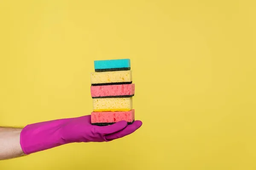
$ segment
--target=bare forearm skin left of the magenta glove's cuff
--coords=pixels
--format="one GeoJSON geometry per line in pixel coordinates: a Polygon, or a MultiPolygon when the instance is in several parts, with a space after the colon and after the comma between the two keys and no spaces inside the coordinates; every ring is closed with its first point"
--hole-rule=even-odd
{"type": "Polygon", "coordinates": [[[0,160],[25,155],[20,147],[21,130],[22,128],[0,127],[0,160]]]}

